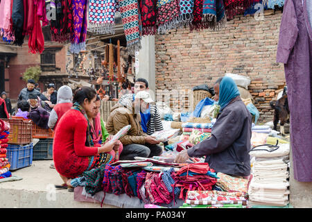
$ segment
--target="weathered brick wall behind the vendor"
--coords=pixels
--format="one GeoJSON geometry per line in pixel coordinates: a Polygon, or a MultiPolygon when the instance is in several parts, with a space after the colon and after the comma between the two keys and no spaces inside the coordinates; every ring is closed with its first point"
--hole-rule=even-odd
{"type": "Polygon", "coordinates": [[[225,73],[240,74],[252,80],[248,90],[260,112],[259,121],[272,121],[269,103],[275,89],[285,85],[284,67],[275,62],[281,15],[266,10],[263,20],[238,16],[220,31],[191,33],[189,28],[179,28],[156,35],[157,101],[165,98],[171,108],[187,111],[192,98],[183,101],[182,97],[189,89],[202,83],[212,87],[225,73]]]}

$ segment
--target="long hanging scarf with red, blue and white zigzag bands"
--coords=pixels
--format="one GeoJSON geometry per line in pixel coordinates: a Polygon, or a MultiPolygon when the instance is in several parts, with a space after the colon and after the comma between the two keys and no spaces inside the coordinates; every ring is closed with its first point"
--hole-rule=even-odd
{"type": "Polygon", "coordinates": [[[127,40],[127,50],[132,56],[141,49],[139,7],[137,0],[120,0],[119,10],[123,21],[123,31],[127,40]]]}

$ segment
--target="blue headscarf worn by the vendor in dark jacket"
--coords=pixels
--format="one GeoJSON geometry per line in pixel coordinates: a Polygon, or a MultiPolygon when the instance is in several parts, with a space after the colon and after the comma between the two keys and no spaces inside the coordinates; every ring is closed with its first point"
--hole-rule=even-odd
{"type": "Polygon", "coordinates": [[[229,101],[239,96],[239,89],[236,86],[234,80],[229,76],[224,76],[220,83],[219,89],[219,101],[220,110],[223,110],[229,101]]]}

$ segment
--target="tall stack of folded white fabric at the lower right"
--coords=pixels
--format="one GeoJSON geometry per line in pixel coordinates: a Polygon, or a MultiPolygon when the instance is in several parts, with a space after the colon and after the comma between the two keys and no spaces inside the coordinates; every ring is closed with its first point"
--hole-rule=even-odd
{"type": "Polygon", "coordinates": [[[289,194],[289,144],[254,147],[252,155],[252,180],[248,189],[250,205],[288,205],[289,194]]]}

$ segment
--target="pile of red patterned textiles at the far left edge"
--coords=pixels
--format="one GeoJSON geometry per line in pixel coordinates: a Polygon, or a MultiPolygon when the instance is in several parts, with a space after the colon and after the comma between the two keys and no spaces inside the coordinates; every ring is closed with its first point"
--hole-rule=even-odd
{"type": "Polygon", "coordinates": [[[0,119],[0,180],[12,176],[7,158],[10,124],[0,119]]]}

